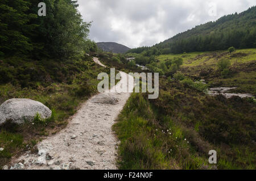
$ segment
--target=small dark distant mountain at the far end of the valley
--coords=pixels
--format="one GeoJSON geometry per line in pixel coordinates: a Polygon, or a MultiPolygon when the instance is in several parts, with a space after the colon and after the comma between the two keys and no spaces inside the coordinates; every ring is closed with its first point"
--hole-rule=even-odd
{"type": "Polygon", "coordinates": [[[105,52],[126,53],[130,48],[114,42],[98,42],[98,48],[105,52]]]}

